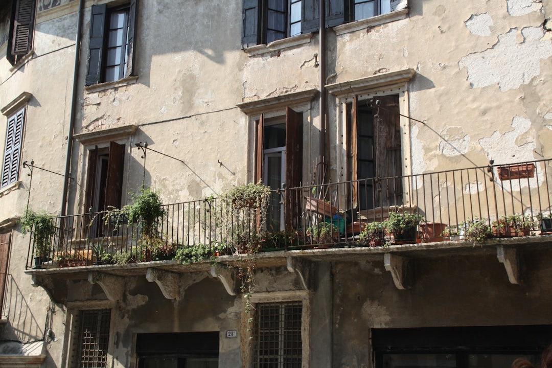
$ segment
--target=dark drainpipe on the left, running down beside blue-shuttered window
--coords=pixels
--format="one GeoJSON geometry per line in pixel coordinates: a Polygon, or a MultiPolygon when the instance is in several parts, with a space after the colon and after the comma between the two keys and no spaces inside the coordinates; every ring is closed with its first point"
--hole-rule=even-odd
{"type": "Polygon", "coordinates": [[[71,99],[71,113],[69,118],[69,132],[67,134],[67,157],[65,161],[65,182],[63,183],[63,194],[61,197],[61,216],[67,213],[67,191],[69,186],[69,174],[71,172],[71,154],[73,151],[73,129],[75,127],[75,115],[77,105],[77,82],[78,67],[81,54],[81,28],[84,0],[78,0],[77,37],[75,40],[75,70],[73,70],[73,95],[71,99]]]}

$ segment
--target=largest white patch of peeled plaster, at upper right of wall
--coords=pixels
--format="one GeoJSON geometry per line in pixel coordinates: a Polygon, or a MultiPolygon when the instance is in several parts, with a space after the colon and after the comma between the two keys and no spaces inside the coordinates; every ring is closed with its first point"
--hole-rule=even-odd
{"type": "Polygon", "coordinates": [[[501,90],[518,88],[540,73],[540,59],[552,56],[552,41],[544,40],[544,30],[527,27],[521,30],[523,41],[516,41],[516,29],[498,36],[491,49],[474,52],[460,59],[460,69],[468,70],[471,86],[486,87],[497,83],[501,90]]]}

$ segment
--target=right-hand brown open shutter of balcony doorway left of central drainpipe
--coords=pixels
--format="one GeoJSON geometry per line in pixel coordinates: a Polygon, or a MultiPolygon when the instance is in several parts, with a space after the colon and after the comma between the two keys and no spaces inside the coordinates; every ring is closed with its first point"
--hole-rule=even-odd
{"type": "MultiPolygon", "coordinates": [[[[294,188],[302,180],[303,125],[301,114],[290,108],[285,111],[285,187],[294,188]]],[[[301,214],[301,198],[298,193],[288,192],[284,200],[284,223],[286,228],[297,228],[301,214]]]]}

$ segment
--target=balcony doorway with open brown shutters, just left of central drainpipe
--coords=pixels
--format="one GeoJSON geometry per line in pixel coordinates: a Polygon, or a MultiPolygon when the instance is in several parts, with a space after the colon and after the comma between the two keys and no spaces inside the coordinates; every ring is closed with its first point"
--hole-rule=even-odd
{"type": "MultiPolygon", "coordinates": [[[[302,176],[302,114],[289,107],[284,116],[265,118],[256,122],[255,182],[261,180],[272,189],[294,188],[301,185],[302,176]]],[[[272,193],[267,214],[270,231],[296,228],[300,200],[272,193]],[[284,215],[285,214],[285,215],[284,215]]]]}

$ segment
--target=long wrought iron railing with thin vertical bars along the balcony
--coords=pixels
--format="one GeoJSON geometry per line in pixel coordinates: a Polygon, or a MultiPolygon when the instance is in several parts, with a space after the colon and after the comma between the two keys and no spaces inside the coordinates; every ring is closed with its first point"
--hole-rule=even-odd
{"type": "MultiPolygon", "coordinates": [[[[367,224],[384,221],[392,212],[420,214],[422,222],[437,224],[432,225],[433,237],[421,237],[422,241],[444,240],[445,226],[447,235],[461,236],[466,224],[477,221],[492,228],[513,215],[535,220],[530,231],[539,233],[537,218],[548,217],[552,210],[550,164],[547,159],[289,188],[273,192],[280,200],[269,201],[272,207],[266,219],[259,218],[258,209],[235,209],[218,198],[164,205],[164,215],[156,224],[156,246],[177,249],[203,244],[213,252],[228,253],[247,252],[251,247],[358,246],[367,224]],[[329,228],[326,237],[322,228],[329,228]]],[[[149,260],[141,220],[129,222],[124,211],[52,221],[57,231],[47,239],[41,257],[34,257],[38,252],[31,237],[28,267],[35,266],[35,259],[37,265],[93,265],[102,254],[110,254],[112,261],[123,253],[131,262],[149,260]]],[[[390,233],[386,239],[396,240],[390,233]]]]}

